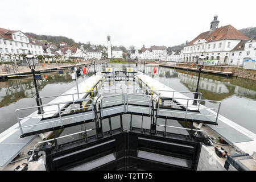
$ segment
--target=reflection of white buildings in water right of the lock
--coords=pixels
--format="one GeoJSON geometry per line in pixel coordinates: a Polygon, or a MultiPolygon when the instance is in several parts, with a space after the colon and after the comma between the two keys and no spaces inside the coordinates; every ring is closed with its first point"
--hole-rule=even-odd
{"type": "MultiPolygon", "coordinates": [[[[191,92],[195,92],[198,73],[187,72],[180,69],[160,67],[159,77],[179,78],[179,81],[191,92]]],[[[234,94],[239,97],[247,97],[256,100],[256,82],[236,77],[222,77],[201,74],[199,92],[203,98],[221,101],[234,94]]]]}

